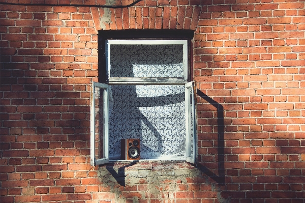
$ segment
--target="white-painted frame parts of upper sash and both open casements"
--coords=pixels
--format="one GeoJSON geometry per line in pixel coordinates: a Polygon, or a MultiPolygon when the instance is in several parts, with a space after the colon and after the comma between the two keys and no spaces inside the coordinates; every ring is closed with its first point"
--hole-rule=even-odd
{"type": "MultiPolygon", "coordinates": [[[[108,134],[108,112],[109,112],[109,95],[108,85],[126,84],[126,85],[140,85],[140,84],[168,84],[168,85],[185,85],[185,109],[186,109],[186,160],[187,162],[196,163],[197,159],[197,133],[196,133],[196,110],[193,81],[187,82],[188,79],[188,41],[187,40],[106,40],[106,74],[107,83],[92,82],[91,84],[91,102],[90,102],[90,163],[91,165],[100,165],[108,163],[109,161],[109,134],[108,134]],[[141,44],[141,45],[155,45],[155,44],[182,44],[183,45],[183,78],[114,78],[108,77],[110,70],[110,44],[141,44]],[[95,88],[104,89],[103,91],[103,150],[104,157],[96,159],[95,157],[95,88]],[[192,97],[192,101],[191,101],[192,97]],[[192,117],[191,117],[192,111],[192,117]],[[193,122],[193,129],[191,129],[191,122],[193,122]],[[193,136],[193,137],[191,137],[193,136]],[[191,140],[193,140],[191,143],[191,140]],[[191,153],[191,146],[193,146],[193,154],[191,153]]],[[[99,146],[100,147],[100,146],[99,146]]],[[[147,160],[146,160],[147,161],[147,160]]],[[[148,160],[149,161],[149,160],[148,160]]],[[[158,159],[163,161],[163,159],[158,159]]],[[[183,161],[183,160],[182,160],[183,161]]]]}

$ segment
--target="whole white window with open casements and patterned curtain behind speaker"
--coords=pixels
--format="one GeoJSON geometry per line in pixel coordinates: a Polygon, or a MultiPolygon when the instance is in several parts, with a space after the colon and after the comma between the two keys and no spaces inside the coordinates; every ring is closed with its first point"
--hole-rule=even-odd
{"type": "Polygon", "coordinates": [[[105,40],[104,82],[92,83],[91,163],[120,159],[139,138],[141,160],[195,162],[194,83],[188,40],[105,40]]]}

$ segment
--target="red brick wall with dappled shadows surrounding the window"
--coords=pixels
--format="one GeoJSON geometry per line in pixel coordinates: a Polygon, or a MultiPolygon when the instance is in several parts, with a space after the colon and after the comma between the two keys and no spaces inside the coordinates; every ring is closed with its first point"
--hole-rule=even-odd
{"type": "Polygon", "coordinates": [[[303,1],[0,10],[1,202],[304,203],[303,1]],[[129,28],[195,31],[196,167],[89,164],[97,34],[129,28]]]}

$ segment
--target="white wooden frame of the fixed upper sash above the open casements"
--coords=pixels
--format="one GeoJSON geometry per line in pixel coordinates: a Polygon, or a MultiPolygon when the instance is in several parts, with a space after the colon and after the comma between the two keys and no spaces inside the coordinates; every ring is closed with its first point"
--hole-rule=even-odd
{"type": "MultiPolygon", "coordinates": [[[[105,51],[106,51],[106,81],[109,84],[185,84],[188,80],[188,41],[187,40],[106,40],[105,41],[105,51]],[[113,51],[111,49],[111,45],[182,45],[182,55],[181,59],[181,65],[182,68],[179,69],[182,74],[178,77],[160,77],[160,76],[126,76],[124,74],[113,74],[113,69],[111,70],[111,66],[113,66],[113,62],[111,62],[111,57],[114,57],[112,55],[113,51]],[[111,64],[112,63],[112,64],[111,64]]],[[[120,52],[114,52],[114,54],[117,54],[116,57],[119,58],[120,52]]],[[[124,53],[121,53],[124,54],[124,53]]],[[[167,53],[170,54],[170,53],[167,53]]],[[[174,53],[173,53],[174,54],[174,53]]],[[[137,55],[138,56],[138,55],[137,55]]],[[[140,55],[141,56],[141,55],[140,55]]],[[[145,57],[145,56],[143,56],[145,57]]],[[[162,55],[161,55],[162,57],[162,55]]],[[[172,56],[174,58],[174,56],[172,56]]],[[[165,58],[166,59],[166,58],[165,58]]],[[[144,59],[145,61],[145,59],[144,59]]],[[[133,64],[132,64],[133,65],[133,64]]],[[[136,65],[136,64],[135,64],[136,65]]],[[[140,64],[142,66],[145,66],[143,64],[140,64]]],[[[155,64],[149,64],[149,65],[155,65],[155,64]]],[[[147,66],[149,66],[147,65],[147,66]]],[[[126,67],[130,68],[130,67],[126,67]]],[[[120,68],[117,70],[124,70],[124,68],[120,68]]],[[[114,69],[116,70],[116,69],[114,69]]],[[[148,69],[149,70],[149,69],[148,69]]],[[[151,69],[150,69],[151,70],[151,69]]],[[[149,70],[149,71],[150,71],[149,70]]],[[[170,71],[170,69],[167,69],[170,71]]],[[[174,71],[173,71],[174,72],[174,71]]],[[[151,74],[151,72],[150,72],[151,74]]],[[[158,73],[157,73],[158,74],[158,73]]]]}

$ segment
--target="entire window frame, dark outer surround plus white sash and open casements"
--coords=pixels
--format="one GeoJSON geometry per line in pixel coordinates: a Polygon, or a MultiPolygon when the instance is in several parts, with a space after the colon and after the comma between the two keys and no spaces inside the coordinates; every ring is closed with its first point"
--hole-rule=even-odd
{"type": "MultiPolygon", "coordinates": [[[[108,163],[109,161],[109,135],[108,135],[108,85],[149,85],[149,84],[179,84],[185,85],[185,109],[186,109],[186,160],[187,162],[196,163],[197,160],[197,133],[196,133],[196,109],[195,109],[195,95],[196,88],[193,81],[191,81],[191,67],[192,60],[191,39],[194,36],[194,31],[100,31],[99,34],[99,82],[92,82],[91,102],[90,102],[90,163],[92,165],[100,165],[108,163]],[[178,34],[178,35],[177,35],[178,34]],[[124,36],[124,37],[123,37],[124,36]],[[143,38],[142,36],[145,36],[143,38]],[[110,44],[162,44],[162,43],[181,43],[184,44],[184,77],[183,78],[108,78],[108,49],[107,43],[110,44]],[[191,81],[191,82],[188,82],[191,81]],[[103,157],[96,159],[95,155],[95,140],[97,133],[95,132],[95,88],[103,89],[103,157]],[[192,98],[192,99],[191,99],[192,98]],[[192,116],[191,116],[192,112],[192,116]],[[191,122],[193,122],[193,129],[191,129],[191,122]],[[193,138],[191,137],[193,136],[193,138]],[[192,140],[192,143],[191,143],[192,140]],[[193,146],[193,153],[191,147],[193,146]]],[[[109,44],[108,44],[109,45],[109,44]]],[[[125,160],[124,160],[125,161],[125,160]]],[[[140,160],[142,161],[142,160],[140,160]]],[[[151,161],[151,160],[143,160],[151,161]]],[[[163,161],[163,159],[158,159],[163,161]]],[[[183,160],[182,160],[183,161],[183,160]]]]}

